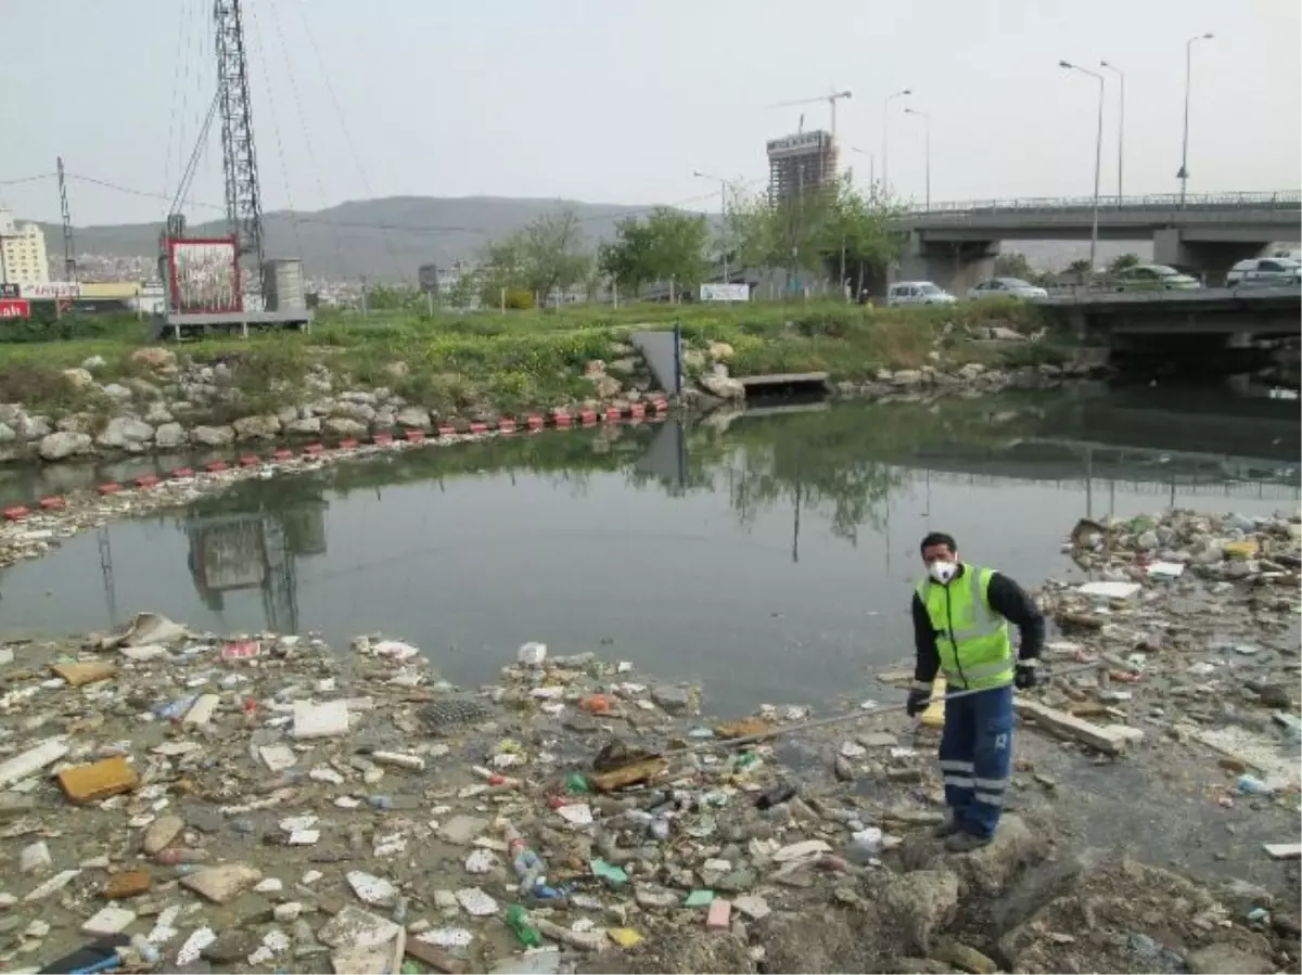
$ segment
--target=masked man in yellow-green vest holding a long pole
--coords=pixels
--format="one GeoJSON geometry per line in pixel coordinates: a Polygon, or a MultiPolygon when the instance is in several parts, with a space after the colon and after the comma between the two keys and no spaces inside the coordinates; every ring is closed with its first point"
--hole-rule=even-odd
{"type": "Polygon", "coordinates": [[[1035,686],[1044,646],[1044,617],[1021,586],[993,569],[958,558],[950,535],[922,540],[927,577],[913,596],[918,650],[909,716],[926,709],[931,683],[943,670],[949,693],[979,690],[945,703],[940,773],[949,816],[937,831],[956,853],[995,836],[1013,771],[1013,687],[1035,686]],[[1008,625],[1021,633],[1021,652],[1008,625]]]}

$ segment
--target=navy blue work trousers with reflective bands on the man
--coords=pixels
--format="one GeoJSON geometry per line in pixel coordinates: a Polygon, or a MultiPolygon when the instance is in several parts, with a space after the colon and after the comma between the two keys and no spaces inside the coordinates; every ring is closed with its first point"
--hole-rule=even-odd
{"type": "Polygon", "coordinates": [[[945,702],[940,773],[954,821],[975,836],[993,836],[1013,773],[1012,685],[945,702]]]}

